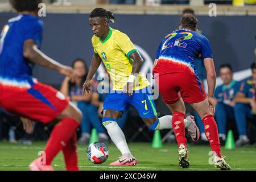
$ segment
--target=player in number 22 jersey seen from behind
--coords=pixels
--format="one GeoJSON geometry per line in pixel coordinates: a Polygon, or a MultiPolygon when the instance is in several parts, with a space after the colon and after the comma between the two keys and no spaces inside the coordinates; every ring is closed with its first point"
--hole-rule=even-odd
{"type": "Polygon", "coordinates": [[[230,169],[220,152],[220,139],[214,120],[214,88],[216,72],[210,43],[196,32],[197,19],[185,14],[181,17],[179,30],[166,35],[156,53],[153,73],[159,85],[163,101],[172,111],[172,127],[179,147],[179,165],[189,167],[187,139],[185,138],[185,105],[188,102],[204,122],[205,134],[214,154],[214,164],[221,169],[230,169]],[[204,92],[195,58],[201,53],[207,71],[208,96],[204,92]],[[183,101],[184,100],[184,101],[183,101]]]}

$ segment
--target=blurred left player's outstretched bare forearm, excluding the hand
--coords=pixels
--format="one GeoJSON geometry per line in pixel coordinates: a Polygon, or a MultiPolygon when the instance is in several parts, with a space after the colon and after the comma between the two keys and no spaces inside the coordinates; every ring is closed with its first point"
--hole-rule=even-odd
{"type": "Polygon", "coordinates": [[[34,40],[29,39],[24,42],[23,56],[33,63],[39,64],[43,67],[54,69],[60,72],[64,65],[46,56],[42,51],[38,49],[34,40]]]}

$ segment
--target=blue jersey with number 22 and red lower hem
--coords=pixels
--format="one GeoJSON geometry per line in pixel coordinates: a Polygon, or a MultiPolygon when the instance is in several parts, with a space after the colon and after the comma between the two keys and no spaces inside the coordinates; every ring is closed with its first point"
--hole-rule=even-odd
{"type": "Polygon", "coordinates": [[[195,59],[213,58],[209,40],[198,32],[180,29],[164,37],[155,59],[158,59],[153,73],[189,72],[197,74],[195,59]]]}

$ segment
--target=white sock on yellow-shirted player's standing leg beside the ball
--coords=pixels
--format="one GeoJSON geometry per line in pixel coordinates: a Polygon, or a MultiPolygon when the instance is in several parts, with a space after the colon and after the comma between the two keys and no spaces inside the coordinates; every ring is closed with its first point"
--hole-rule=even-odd
{"type": "Polygon", "coordinates": [[[121,128],[118,126],[117,122],[109,123],[105,126],[105,128],[108,131],[109,137],[112,139],[115,146],[117,146],[122,155],[131,156],[131,152],[125,140],[125,135],[123,134],[121,128]]]}

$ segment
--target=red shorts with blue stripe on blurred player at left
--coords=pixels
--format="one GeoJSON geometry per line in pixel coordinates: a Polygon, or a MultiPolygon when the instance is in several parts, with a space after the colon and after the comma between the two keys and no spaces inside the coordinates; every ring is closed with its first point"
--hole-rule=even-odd
{"type": "Polygon", "coordinates": [[[65,96],[52,86],[36,83],[28,89],[0,84],[0,107],[11,114],[49,123],[68,105],[65,96]]]}

